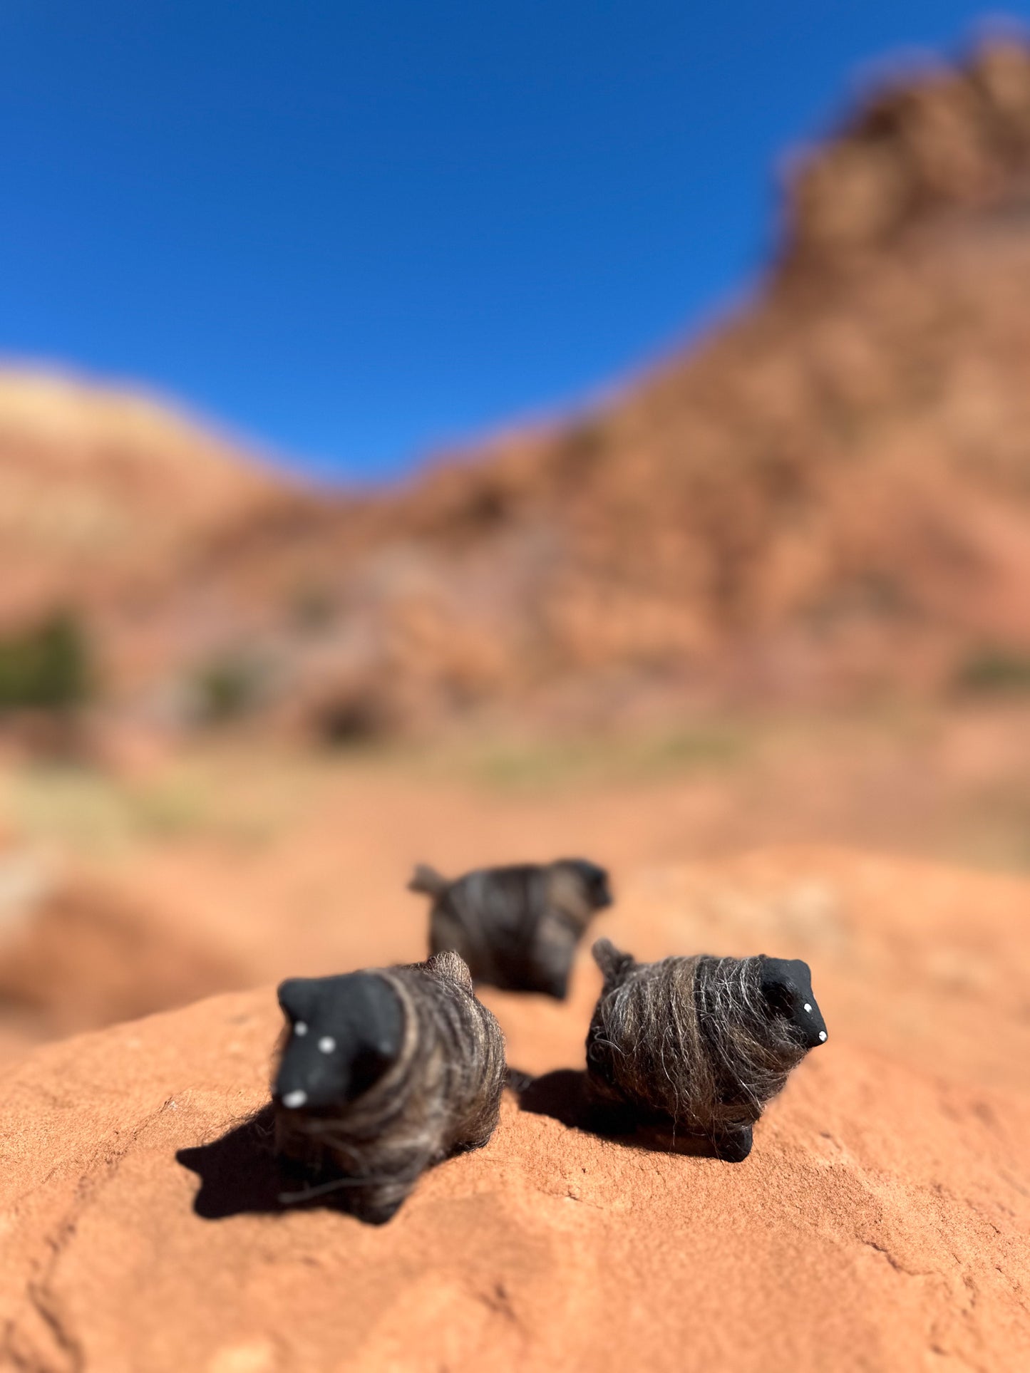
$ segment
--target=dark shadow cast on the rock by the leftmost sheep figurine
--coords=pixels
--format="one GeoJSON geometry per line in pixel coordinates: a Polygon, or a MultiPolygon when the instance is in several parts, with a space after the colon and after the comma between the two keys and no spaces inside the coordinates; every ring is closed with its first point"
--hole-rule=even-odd
{"type": "Polygon", "coordinates": [[[339,1179],[312,1181],[302,1170],[276,1157],[273,1120],[269,1104],[211,1144],[176,1153],[176,1162],[201,1179],[194,1200],[196,1215],[222,1221],[231,1215],[295,1211],[298,1207],[350,1210],[350,1197],[339,1179]]]}

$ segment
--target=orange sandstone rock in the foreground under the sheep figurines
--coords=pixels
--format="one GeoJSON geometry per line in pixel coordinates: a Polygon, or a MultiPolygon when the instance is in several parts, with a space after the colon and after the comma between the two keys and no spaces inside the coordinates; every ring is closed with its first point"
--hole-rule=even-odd
{"type": "Polygon", "coordinates": [[[567,1006],[492,997],[512,1064],[566,1070],[555,1115],[508,1098],[492,1144],[382,1229],[262,1210],[266,1156],[218,1144],[266,1101],[271,987],[36,1049],[0,1075],[0,1368],[1022,1368],[1029,910],[1025,881],[832,851],[640,873],[606,932],[641,956],[813,965],[831,1038],[750,1159],[555,1118],[580,968],[567,1006]]]}

